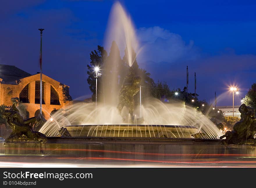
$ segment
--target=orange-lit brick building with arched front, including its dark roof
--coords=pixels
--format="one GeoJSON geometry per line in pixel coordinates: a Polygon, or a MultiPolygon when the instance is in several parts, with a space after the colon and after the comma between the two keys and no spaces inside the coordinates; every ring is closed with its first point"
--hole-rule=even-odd
{"type": "MultiPolygon", "coordinates": [[[[19,97],[26,106],[27,117],[40,112],[40,73],[31,75],[10,65],[0,64],[0,105],[11,106],[11,98],[19,97]]],[[[54,109],[65,109],[72,100],[69,86],[42,74],[42,115],[46,120],[54,109]]]]}

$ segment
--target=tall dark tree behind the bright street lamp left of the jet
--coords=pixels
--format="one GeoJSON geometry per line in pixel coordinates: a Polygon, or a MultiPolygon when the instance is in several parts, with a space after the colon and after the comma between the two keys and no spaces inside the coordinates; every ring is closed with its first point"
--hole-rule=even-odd
{"type": "MultiPolygon", "coordinates": [[[[95,67],[103,67],[104,65],[104,61],[106,59],[107,56],[107,52],[104,49],[103,46],[99,46],[97,50],[94,50],[90,53],[90,65],[87,65],[88,71],[88,78],[87,78],[87,82],[89,84],[89,88],[91,90],[91,92],[93,93],[92,95],[92,100],[95,101],[95,97],[96,97],[96,82],[95,82],[95,67]]],[[[97,95],[101,95],[102,94],[102,84],[98,84],[97,86],[97,95]]]]}

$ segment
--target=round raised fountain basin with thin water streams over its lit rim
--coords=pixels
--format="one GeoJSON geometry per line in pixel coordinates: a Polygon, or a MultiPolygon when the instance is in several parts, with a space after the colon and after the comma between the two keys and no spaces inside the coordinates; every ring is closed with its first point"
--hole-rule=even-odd
{"type": "Polygon", "coordinates": [[[70,125],[72,137],[191,138],[198,133],[194,126],[184,125],[70,125]]]}

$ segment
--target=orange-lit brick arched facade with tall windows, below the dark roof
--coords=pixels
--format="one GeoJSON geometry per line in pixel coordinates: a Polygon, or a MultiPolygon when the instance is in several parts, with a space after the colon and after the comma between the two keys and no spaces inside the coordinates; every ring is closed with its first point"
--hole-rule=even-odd
{"type": "MultiPolygon", "coordinates": [[[[34,117],[35,112],[40,109],[40,74],[19,79],[17,85],[0,85],[0,104],[10,106],[12,105],[10,98],[19,97],[26,105],[30,118],[34,117]]],[[[70,104],[70,100],[66,100],[67,92],[63,91],[64,88],[67,90],[68,86],[42,75],[42,111],[46,120],[50,118],[50,113],[54,109],[65,109],[65,106],[70,104]]]]}

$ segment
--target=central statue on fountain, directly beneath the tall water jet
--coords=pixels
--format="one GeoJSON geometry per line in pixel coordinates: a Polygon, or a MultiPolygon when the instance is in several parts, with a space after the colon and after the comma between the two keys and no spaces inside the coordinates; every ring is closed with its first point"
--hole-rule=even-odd
{"type": "MultiPolygon", "coordinates": [[[[140,84],[141,77],[135,76],[134,68],[130,67],[119,92],[119,103],[117,108],[121,114],[123,107],[126,106],[128,108],[132,123],[135,123],[134,95],[140,91],[140,84]]],[[[123,120],[128,122],[128,118],[129,117],[126,117],[123,120]]],[[[143,118],[137,118],[136,122],[141,123],[144,122],[144,120],[143,118]]]]}

